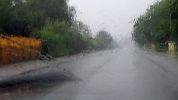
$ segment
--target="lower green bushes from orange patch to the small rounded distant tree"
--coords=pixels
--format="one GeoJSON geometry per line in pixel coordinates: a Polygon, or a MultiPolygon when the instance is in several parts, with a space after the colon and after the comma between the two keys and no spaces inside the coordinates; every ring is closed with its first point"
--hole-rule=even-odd
{"type": "Polygon", "coordinates": [[[48,54],[59,57],[81,52],[86,49],[107,49],[113,45],[113,39],[106,31],[100,31],[95,38],[91,37],[88,28],[84,24],[74,24],[69,27],[65,21],[48,23],[33,36],[45,40],[48,46],[48,54]],[[85,30],[85,31],[84,31],[85,30]]]}

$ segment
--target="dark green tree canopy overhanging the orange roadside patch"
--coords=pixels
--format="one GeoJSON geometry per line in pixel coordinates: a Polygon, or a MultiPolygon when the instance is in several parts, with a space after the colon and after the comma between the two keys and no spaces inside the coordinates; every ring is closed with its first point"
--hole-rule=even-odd
{"type": "Polygon", "coordinates": [[[67,0],[0,0],[0,32],[29,35],[49,21],[73,22],[67,0]]]}

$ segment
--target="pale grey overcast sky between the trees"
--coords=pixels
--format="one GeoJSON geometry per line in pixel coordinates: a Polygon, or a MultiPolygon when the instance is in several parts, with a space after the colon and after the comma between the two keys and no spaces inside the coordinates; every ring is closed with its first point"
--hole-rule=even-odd
{"type": "Polygon", "coordinates": [[[129,23],[144,14],[156,0],[70,0],[77,9],[78,20],[90,26],[93,33],[105,29],[114,37],[131,36],[129,23]]]}

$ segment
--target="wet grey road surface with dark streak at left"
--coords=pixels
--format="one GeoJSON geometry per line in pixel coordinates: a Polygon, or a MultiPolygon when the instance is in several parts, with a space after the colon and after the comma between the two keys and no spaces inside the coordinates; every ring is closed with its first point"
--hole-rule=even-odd
{"type": "Polygon", "coordinates": [[[135,46],[100,51],[1,81],[0,100],[178,100],[178,63],[135,46]]]}

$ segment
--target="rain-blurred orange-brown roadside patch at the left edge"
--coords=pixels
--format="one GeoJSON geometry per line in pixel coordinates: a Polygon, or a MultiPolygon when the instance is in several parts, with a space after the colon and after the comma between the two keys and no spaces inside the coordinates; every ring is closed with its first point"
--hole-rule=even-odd
{"type": "Polygon", "coordinates": [[[39,39],[0,36],[0,63],[9,64],[39,57],[42,41],[39,39]]]}

